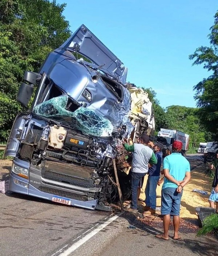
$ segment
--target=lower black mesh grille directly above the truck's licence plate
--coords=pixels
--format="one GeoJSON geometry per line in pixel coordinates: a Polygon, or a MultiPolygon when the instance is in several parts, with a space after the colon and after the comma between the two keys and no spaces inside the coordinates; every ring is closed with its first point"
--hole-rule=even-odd
{"type": "Polygon", "coordinates": [[[53,189],[51,187],[44,187],[44,186],[39,186],[38,189],[41,192],[52,194],[52,195],[58,195],[59,197],[66,197],[69,199],[74,199],[74,200],[84,201],[84,202],[88,201],[85,195],[77,195],[74,193],[66,192],[59,189],[53,189]]]}

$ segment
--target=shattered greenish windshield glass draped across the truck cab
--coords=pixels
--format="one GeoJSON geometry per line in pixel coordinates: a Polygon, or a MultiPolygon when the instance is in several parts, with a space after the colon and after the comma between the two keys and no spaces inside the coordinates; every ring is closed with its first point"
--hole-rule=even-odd
{"type": "Polygon", "coordinates": [[[74,123],[76,128],[85,135],[111,136],[113,125],[109,120],[98,115],[94,110],[84,107],[79,107],[72,112],[68,110],[70,109],[67,106],[68,100],[68,95],[52,98],[36,105],[33,113],[68,124],[74,123]]]}

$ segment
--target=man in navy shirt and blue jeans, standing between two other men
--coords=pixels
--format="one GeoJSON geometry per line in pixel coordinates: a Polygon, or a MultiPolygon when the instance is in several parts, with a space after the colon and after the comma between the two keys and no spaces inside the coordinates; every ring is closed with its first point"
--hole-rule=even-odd
{"type": "Polygon", "coordinates": [[[160,179],[161,163],[162,163],[162,149],[163,144],[154,144],[154,152],[157,158],[157,164],[151,166],[148,170],[148,181],[145,188],[145,214],[155,214],[156,212],[156,201],[157,201],[157,183],[160,179]]]}

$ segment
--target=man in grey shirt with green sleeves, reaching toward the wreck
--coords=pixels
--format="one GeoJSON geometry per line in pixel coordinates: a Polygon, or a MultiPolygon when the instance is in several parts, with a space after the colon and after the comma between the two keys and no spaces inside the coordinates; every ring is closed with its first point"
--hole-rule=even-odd
{"type": "Polygon", "coordinates": [[[129,209],[132,212],[137,212],[138,210],[138,195],[140,194],[144,176],[148,172],[148,164],[157,164],[157,158],[153,150],[148,147],[148,143],[149,136],[142,134],[138,143],[134,143],[133,145],[129,145],[128,143],[124,144],[126,151],[133,152],[131,169],[132,202],[129,209]]]}

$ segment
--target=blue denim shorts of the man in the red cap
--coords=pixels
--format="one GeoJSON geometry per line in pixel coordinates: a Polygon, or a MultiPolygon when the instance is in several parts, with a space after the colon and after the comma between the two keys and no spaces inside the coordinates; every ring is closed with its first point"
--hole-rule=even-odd
{"type": "Polygon", "coordinates": [[[166,187],[161,191],[161,215],[179,216],[182,192],[174,187],[166,187]]]}

